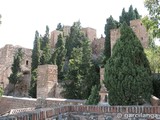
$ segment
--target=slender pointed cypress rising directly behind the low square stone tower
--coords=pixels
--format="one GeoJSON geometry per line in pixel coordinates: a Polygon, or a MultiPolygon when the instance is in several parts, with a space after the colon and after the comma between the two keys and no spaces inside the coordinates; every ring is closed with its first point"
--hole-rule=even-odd
{"type": "Polygon", "coordinates": [[[42,39],[41,43],[41,50],[42,55],[40,58],[41,65],[48,64],[51,58],[51,47],[50,47],[50,40],[49,40],[49,27],[46,26],[46,33],[42,39]]]}

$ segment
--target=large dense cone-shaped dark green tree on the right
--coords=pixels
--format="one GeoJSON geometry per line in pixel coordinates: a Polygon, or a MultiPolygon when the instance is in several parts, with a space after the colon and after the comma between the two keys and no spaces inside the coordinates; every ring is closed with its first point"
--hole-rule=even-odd
{"type": "Polygon", "coordinates": [[[151,70],[143,47],[127,24],[105,66],[105,86],[111,105],[137,105],[150,100],[153,92],[151,70]]]}

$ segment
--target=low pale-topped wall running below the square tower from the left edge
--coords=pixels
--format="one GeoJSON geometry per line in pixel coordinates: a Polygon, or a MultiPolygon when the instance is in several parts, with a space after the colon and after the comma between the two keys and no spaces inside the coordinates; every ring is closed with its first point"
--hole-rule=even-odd
{"type": "Polygon", "coordinates": [[[2,96],[0,98],[0,115],[6,113],[11,109],[19,108],[44,108],[44,107],[57,107],[60,105],[82,105],[84,100],[74,99],[33,99],[33,98],[20,98],[12,96],[2,96]]]}

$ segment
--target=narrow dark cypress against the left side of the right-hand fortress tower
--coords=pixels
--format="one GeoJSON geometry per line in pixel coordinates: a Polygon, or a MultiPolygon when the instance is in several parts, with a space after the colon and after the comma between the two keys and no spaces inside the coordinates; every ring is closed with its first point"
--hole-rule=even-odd
{"type": "Polygon", "coordinates": [[[108,60],[111,56],[111,39],[110,39],[110,30],[115,29],[118,27],[118,22],[113,19],[112,16],[110,16],[106,20],[105,24],[105,48],[104,48],[104,55],[105,55],[105,61],[108,60]]]}

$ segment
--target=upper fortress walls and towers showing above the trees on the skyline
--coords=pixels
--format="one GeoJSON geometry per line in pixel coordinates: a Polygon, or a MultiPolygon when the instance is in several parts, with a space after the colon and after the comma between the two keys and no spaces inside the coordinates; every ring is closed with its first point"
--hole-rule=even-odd
{"type": "MultiPolygon", "coordinates": [[[[141,41],[141,44],[144,48],[148,47],[148,33],[145,26],[142,24],[141,20],[132,20],[130,21],[130,27],[137,35],[138,39],[141,41]]],[[[57,42],[59,34],[62,34],[64,37],[68,36],[70,33],[71,26],[64,26],[63,31],[54,30],[51,32],[51,46],[54,48],[57,42]]],[[[90,40],[92,47],[93,57],[97,58],[100,54],[103,53],[105,38],[101,35],[100,38],[97,38],[96,30],[90,27],[82,28],[84,35],[90,40]]],[[[120,29],[112,29],[110,31],[111,38],[111,49],[116,43],[117,39],[120,37],[120,29]]]]}

